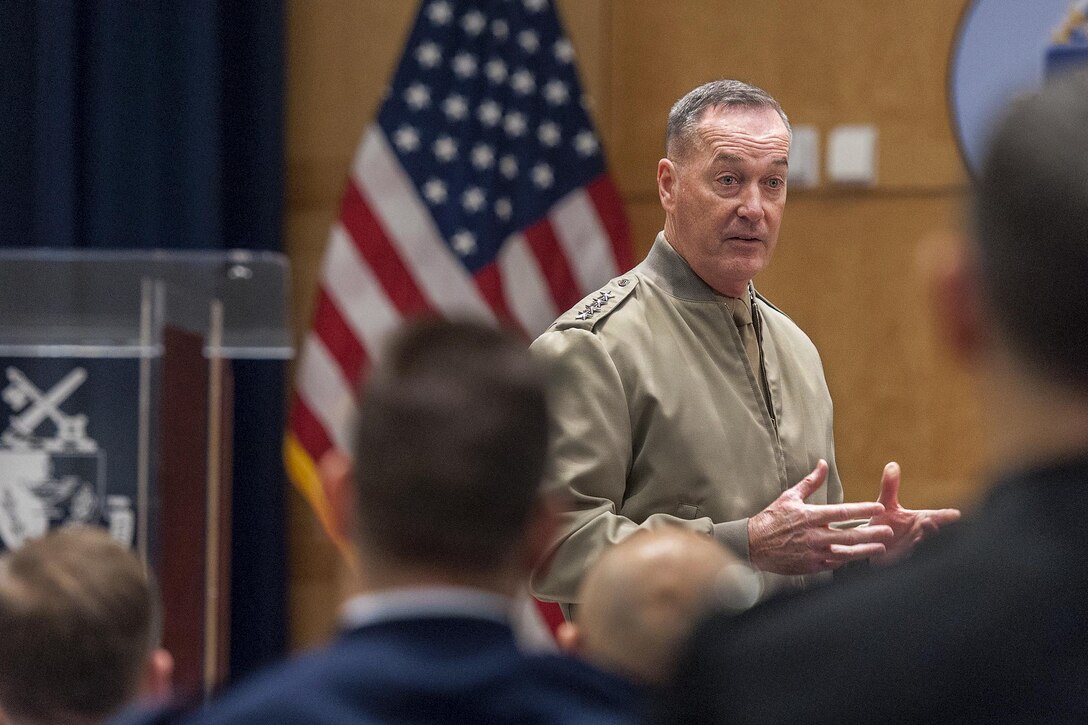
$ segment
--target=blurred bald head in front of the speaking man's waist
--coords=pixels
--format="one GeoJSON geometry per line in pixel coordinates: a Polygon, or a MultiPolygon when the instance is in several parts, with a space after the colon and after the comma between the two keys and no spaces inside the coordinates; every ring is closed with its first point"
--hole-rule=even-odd
{"type": "Polygon", "coordinates": [[[560,644],[603,669],[662,683],[733,563],[708,537],[679,528],[639,531],[590,567],[560,644]]]}

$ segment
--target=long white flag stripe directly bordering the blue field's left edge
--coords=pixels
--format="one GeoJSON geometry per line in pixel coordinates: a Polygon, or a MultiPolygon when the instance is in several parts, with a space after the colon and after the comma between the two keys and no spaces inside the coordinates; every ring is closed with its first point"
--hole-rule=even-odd
{"type": "Polygon", "coordinates": [[[363,135],[353,175],[428,302],[447,315],[494,320],[472,275],[443,241],[376,123],[363,135]]]}

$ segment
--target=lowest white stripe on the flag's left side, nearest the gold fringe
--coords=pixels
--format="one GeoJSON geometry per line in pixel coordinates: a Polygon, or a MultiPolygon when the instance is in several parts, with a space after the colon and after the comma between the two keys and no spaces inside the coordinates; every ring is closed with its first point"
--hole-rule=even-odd
{"type": "Polygon", "coordinates": [[[324,426],[333,444],[341,451],[350,451],[348,431],[356,416],[355,391],[324,343],[312,332],[306,337],[298,364],[298,394],[324,426]]]}

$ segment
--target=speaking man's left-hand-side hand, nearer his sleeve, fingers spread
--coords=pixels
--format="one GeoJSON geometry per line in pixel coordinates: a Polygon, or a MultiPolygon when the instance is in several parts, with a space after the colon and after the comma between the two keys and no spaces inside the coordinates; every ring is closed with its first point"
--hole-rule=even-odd
{"type": "MultiPolygon", "coordinates": [[[[856,528],[832,528],[855,518],[879,517],[883,503],[806,504],[827,480],[827,462],[782,492],[769,506],[749,519],[749,558],[765,572],[813,574],[846,562],[881,555],[895,539],[880,521],[856,528]]],[[[882,495],[882,494],[881,494],[882,495]]],[[[881,499],[882,501],[882,499],[881,499]]]]}

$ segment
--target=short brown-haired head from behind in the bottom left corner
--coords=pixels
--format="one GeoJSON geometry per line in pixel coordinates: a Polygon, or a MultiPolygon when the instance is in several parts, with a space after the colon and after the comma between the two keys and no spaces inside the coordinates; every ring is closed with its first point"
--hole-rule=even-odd
{"type": "Polygon", "coordinates": [[[90,725],[164,698],[144,567],[102,529],[66,527],[0,556],[0,723],[90,725]]]}

